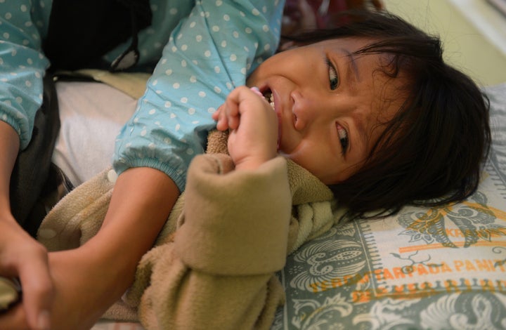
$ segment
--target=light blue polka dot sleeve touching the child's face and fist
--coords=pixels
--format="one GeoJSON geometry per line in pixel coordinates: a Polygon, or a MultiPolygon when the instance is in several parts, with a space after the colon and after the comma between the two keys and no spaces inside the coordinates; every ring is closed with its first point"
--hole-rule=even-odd
{"type": "Polygon", "coordinates": [[[195,1],[174,29],[131,120],[119,133],[118,173],[147,166],[179,190],[191,159],[204,152],[211,114],[278,46],[283,0],[195,1]]]}

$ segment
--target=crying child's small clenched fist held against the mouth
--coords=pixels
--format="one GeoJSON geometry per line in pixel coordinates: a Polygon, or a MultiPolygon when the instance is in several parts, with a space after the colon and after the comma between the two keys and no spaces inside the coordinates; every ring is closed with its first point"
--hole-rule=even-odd
{"type": "Polygon", "coordinates": [[[235,88],[212,115],[220,131],[230,129],[228,152],[235,169],[256,169],[278,152],[278,119],[257,91],[235,88]]]}

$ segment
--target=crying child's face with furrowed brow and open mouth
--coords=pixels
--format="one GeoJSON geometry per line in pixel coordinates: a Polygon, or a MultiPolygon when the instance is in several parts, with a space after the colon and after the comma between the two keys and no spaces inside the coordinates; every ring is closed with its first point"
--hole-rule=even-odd
{"type": "Polygon", "coordinates": [[[247,81],[273,95],[280,153],[326,184],[358,171],[405,100],[402,79],[381,71],[384,55],[351,55],[371,42],[334,39],[283,51],[247,81]]]}

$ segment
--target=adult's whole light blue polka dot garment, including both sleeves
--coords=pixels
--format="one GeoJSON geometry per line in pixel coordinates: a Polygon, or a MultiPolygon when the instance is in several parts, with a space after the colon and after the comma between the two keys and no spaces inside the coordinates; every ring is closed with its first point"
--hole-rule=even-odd
{"type": "MultiPolygon", "coordinates": [[[[284,0],[151,0],[153,24],[139,34],[139,65],[157,63],[134,117],[117,139],[118,173],[149,166],[181,191],[195,154],[203,152],[211,118],[247,74],[273,55],[284,0]],[[170,39],[170,40],[169,40],[170,39]]],[[[41,52],[51,0],[0,1],[0,120],[30,142],[49,66],[41,52]]],[[[112,62],[130,41],[105,56],[112,62]]]]}

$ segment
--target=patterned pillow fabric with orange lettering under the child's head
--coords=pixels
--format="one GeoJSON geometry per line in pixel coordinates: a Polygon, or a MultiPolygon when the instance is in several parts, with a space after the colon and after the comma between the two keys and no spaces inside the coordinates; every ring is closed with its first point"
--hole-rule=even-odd
{"type": "Polygon", "coordinates": [[[273,329],[506,329],[506,84],[478,191],[332,227],[287,260],[273,329]]]}

